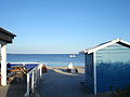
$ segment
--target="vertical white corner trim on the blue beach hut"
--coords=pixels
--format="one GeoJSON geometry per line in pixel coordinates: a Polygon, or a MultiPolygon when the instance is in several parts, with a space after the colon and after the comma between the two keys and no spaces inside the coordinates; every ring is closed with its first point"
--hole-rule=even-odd
{"type": "Polygon", "coordinates": [[[93,69],[94,69],[94,95],[96,95],[96,59],[95,52],[93,52],[93,69]]]}

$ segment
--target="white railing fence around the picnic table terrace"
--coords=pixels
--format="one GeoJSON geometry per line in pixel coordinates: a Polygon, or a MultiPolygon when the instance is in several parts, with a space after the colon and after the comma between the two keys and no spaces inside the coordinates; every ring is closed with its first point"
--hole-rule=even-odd
{"type": "Polygon", "coordinates": [[[25,65],[32,65],[38,64],[34,69],[31,69],[26,75],[27,75],[27,87],[25,97],[29,97],[30,93],[34,93],[34,88],[37,87],[39,84],[39,80],[42,77],[42,64],[40,63],[11,63],[13,65],[21,64],[23,66],[25,65]]]}

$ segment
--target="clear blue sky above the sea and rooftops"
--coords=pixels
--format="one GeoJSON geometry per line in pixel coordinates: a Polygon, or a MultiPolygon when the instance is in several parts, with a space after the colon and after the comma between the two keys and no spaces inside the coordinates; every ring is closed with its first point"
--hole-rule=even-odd
{"type": "Polygon", "coordinates": [[[130,41],[130,0],[0,0],[8,53],[64,54],[116,38],[130,41]]]}

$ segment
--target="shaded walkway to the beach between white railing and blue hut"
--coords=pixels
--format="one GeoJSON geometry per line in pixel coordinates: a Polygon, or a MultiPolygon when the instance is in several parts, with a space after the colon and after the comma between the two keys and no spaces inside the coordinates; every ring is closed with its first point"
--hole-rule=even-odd
{"type": "Polygon", "coordinates": [[[106,95],[94,96],[83,85],[84,71],[67,73],[65,68],[51,68],[44,73],[40,85],[36,88],[35,97],[109,97],[106,95]]]}

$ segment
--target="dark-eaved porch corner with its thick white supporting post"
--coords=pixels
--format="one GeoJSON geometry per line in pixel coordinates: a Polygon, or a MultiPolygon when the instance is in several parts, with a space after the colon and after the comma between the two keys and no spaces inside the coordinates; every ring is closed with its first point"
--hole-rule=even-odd
{"type": "Polygon", "coordinates": [[[6,44],[12,43],[15,34],[0,27],[0,44],[1,44],[1,85],[6,85],[6,44]]]}

